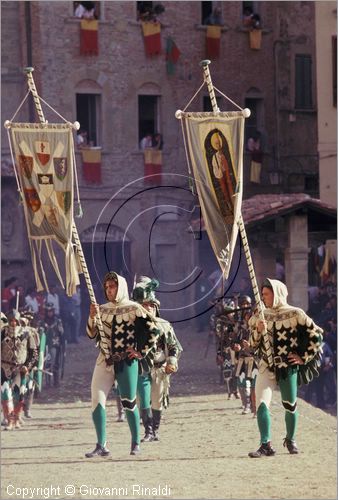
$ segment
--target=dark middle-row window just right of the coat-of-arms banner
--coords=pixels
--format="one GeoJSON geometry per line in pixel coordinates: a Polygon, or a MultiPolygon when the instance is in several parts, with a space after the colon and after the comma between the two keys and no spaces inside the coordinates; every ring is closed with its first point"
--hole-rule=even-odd
{"type": "Polygon", "coordinates": [[[87,132],[90,146],[100,146],[99,123],[101,96],[99,94],[76,94],[76,118],[81,129],[87,132]]]}

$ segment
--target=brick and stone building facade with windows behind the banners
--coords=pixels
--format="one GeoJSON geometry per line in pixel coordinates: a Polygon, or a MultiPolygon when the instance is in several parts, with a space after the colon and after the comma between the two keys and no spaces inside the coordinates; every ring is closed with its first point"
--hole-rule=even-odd
{"type": "MultiPolygon", "coordinates": [[[[252,109],[246,139],[256,130],[261,135],[261,181],[250,182],[246,151],[244,198],[283,192],[316,197],[315,2],[162,2],[162,54],[151,58],[145,54],[137,15],[140,2],[96,3],[97,56],[80,55],[80,20],[74,17],[74,2],[2,3],[2,121],[13,116],[26,94],[25,66],[35,68],[39,94],[67,120],[75,121],[85,103],[87,116],[95,115],[93,144],[102,153],[102,183],[92,185],[82,176],[81,155],[76,152],[84,211],[76,224],[93,281],[98,284],[111,267],[123,272],[130,284],[135,275],[157,274],[167,317],[182,319],[199,307],[192,306],[198,296],[191,285],[194,277],[200,270],[206,277],[217,266],[208,243],[203,243],[204,262],[192,258],[200,244],[189,231],[198,200],[189,191],[180,123],[175,118],[175,111],[186,106],[203,82],[199,65],[206,57],[203,15],[218,5],[224,19],[220,57],[210,66],[213,83],[235,103],[252,109]],[[261,19],[260,50],[250,48],[249,30],[243,26],[246,4],[261,19]],[[166,70],[169,36],[181,52],[174,75],[166,70]],[[147,109],[147,102],[148,124],[164,142],[162,182],[156,186],[143,180],[139,147],[147,124],[140,111],[147,109]]],[[[203,88],[189,109],[203,110],[208,104],[203,88]]],[[[224,98],[219,107],[235,109],[224,98]]],[[[50,122],[59,121],[49,108],[44,110],[50,122]]],[[[32,102],[24,104],[17,119],[37,119],[32,102]]],[[[5,129],[1,134],[3,205],[13,205],[19,213],[18,224],[3,238],[3,278],[15,274],[27,286],[31,279],[27,237],[5,129]],[[14,244],[20,249],[17,253],[11,252],[14,244]]]]}

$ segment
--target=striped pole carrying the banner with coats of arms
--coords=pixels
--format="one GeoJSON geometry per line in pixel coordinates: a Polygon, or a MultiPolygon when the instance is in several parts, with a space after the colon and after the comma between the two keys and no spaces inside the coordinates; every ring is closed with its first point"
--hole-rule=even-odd
{"type": "MultiPolygon", "coordinates": [[[[38,114],[39,120],[42,124],[46,124],[47,121],[46,121],[45,116],[43,114],[41,102],[40,102],[39,95],[38,95],[38,92],[36,90],[35,82],[34,82],[33,75],[32,75],[33,71],[34,71],[34,68],[31,68],[31,67],[27,67],[24,69],[24,72],[27,75],[28,87],[29,87],[29,90],[32,92],[32,96],[34,99],[34,104],[35,104],[35,108],[36,108],[36,112],[38,114]]],[[[75,168],[75,165],[74,165],[74,168],[75,168]]],[[[75,246],[77,248],[77,253],[78,253],[78,256],[80,259],[81,269],[83,271],[83,275],[84,275],[85,282],[87,285],[90,302],[92,304],[96,304],[97,302],[96,302],[96,298],[95,298],[94,288],[93,288],[93,285],[92,285],[92,282],[90,279],[86,259],[85,259],[84,253],[83,253],[82,245],[81,245],[80,238],[79,238],[77,228],[76,228],[74,221],[73,221],[73,225],[72,225],[72,235],[73,235],[75,246]]],[[[106,338],[104,330],[103,330],[103,325],[102,325],[100,315],[97,314],[95,319],[96,319],[96,326],[99,330],[100,337],[101,337],[102,350],[104,351],[104,355],[105,355],[106,359],[108,359],[110,357],[110,349],[109,349],[107,338],[106,338]]]]}

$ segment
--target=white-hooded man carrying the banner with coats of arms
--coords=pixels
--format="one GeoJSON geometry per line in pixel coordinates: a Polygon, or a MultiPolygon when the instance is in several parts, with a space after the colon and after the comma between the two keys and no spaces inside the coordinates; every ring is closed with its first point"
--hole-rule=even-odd
{"type": "Polygon", "coordinates": [[[92,452],[86,453],[87,458],[110,454],[106,448],[106,400],[115,378],[132,437],[130,454],[139,453],[140,415],[136,405],[138,360],[155,349],[159,333],[152,316],[129,300],[127,282],[122,276],[107,273],[103,287],[108,302],[101,306],[90,305],[87,324],[87,335],[95,339],[100,348],[91,385],[97,444],[92,452]],[[97,314],[102,320],[104,338],[96,326],[97,314]]]}

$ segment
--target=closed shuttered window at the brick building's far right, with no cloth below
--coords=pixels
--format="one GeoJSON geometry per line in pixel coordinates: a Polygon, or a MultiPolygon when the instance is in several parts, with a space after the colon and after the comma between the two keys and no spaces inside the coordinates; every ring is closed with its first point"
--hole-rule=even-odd
{"type": "Polygon", "coordinates": [[[312,109],[312,60],[308,54],[295,59],[295,108],[312,109]]]}

